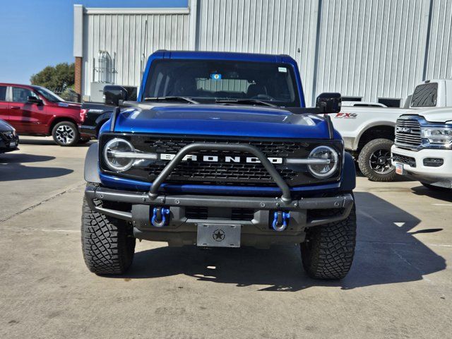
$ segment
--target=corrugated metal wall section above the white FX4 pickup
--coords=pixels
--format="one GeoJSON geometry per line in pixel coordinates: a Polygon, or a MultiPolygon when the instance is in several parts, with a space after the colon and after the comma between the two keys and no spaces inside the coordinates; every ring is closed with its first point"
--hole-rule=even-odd
{"type": "Polygon", "coordinates": [[[323,0],[316,93],[405,98],[422,81],[429,0],[323,0]]]}

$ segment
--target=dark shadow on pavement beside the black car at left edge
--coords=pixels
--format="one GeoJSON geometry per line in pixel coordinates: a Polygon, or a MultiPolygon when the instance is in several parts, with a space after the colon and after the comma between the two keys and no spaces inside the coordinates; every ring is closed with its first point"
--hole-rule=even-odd
{"type": "Polygon", "coordinates": [[[25,179],[42,179],[62,177],[73,172],[73,169],[61,167],[28,167],[26,162],[44,162],[54,160],[47,155],[11,154],[0,155],[0,182],[12,182],[25,179]]]}

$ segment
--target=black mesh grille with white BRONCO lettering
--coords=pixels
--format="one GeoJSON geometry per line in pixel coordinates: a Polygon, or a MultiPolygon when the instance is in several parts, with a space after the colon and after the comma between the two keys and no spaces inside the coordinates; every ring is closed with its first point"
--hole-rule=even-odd
{"type": "MultiPolygon", "coordinates": [[[[117,135],[116,135],[117,136],[117,135]]],[[[102,135],[101,144],[104,145],[114,135],[102,135]]],[[[123,138],[125,136],[121,136],[123,138]]],[[[191,143],[228,143],[228,144],[248,144],[254,145],[267,157],[300,157],[306,158],[312,149],[318,145],[331,145],[342,156],[342,144],[340,141],[311,141],[311,140],[270,140],[270,139],[250,139],[250,138],[215,138],[215,137],[153,137],[143,134],[133,134],[127,136],[136,150],[148,153],[176,154],[185,145],[191,143]]],[[[168,184],[215,184],[222,186],[276,186],[272,177],[260,163],[247,162],[225,162],[222,161],[227,156],[249,157],[248,153],[231,152],[225,150],[199,151],[193,155],[215,155],[218,162],[181,162],[169,175],[165,183],[168,184]]],[[[339,160],[340,163],[342,160],[339,160]]],[[[160,172],[165,168],[168,161],[142,161],[126,172],[115,175],[132,177],[133,179],[143,179],[153,182],[160,172]]],[[[102,161],[101,161],[102,166],[102,161]]],[[[317,184],[323,182],[334,182],[340,179],[340,168],[328,179],[317,179],[313,177],[307,165],[283,165],[275,164],[281,177],[289,186],[300,186],[306,184],[317,184]]],[[[105,172],[109,172],[105,165],[102,166],[105,172]]]]}

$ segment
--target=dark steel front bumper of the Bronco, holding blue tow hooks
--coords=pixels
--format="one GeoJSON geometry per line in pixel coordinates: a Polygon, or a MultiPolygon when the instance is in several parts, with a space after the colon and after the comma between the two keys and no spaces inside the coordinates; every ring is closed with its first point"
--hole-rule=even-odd
{"type": "Polygon", "coordinates": [[[94,184],[86,187],[85,198],[92,210],[131,222],[133,234],[138,239],[168,242],[170,246],[196,244],[197,225],[203,223],[242,225],[242,244],[247,246],[297,244],[304,241],[306,227],[344,220],[354,204],[352,194],[285,202],[265,197],[151,196],[148,192],[120,191],[94,184]],[[97,201],[102,201],[102,204],[97,201]],[[169,222],[164,227],[155,227],[151,222],[152,211],[153,208],[162,206],[169,209],[169,222]],[[194,218],[193,214],[186,213],[189,208],[205,208],[208,216],[194,218]],[[234,208],[251,210],[252,217],[232,220],[230,211],[234,208]],[[321,213],[325,210],[330,213],[321,213]],[[335,213],[331,213],[333,210],[335,213]],[[290,212],[287,229],[283,232],[276,232],[271,227],[275,211],[290,212]]]}

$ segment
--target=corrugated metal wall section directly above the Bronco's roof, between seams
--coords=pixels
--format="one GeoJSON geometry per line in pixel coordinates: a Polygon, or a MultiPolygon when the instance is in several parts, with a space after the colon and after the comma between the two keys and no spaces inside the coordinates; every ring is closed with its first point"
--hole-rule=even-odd
{"type": "Polygon", "coordinates": [[[198,0],[196,49],[289,54],[311,93],[319,0],[198,0]]]}

